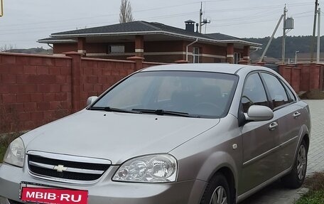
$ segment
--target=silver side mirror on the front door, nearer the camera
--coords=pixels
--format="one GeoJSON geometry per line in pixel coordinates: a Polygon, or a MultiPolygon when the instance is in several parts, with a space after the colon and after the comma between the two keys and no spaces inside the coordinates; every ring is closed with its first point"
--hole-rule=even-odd
{"type": "Polygon", "coordinates": [[[267,121],[274,118],[274,112],[266,106],[252,105],[247,110],[247,113],[244,113],[244,116],[249,121],[267,121]]]}

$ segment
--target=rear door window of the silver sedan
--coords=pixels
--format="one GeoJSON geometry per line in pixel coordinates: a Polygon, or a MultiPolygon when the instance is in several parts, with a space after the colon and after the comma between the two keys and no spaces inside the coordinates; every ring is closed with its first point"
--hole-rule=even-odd
{"type": "Polygon", "coordinates": [[[273,103],[274,108],[279,107],[288,103],[288,97],[286,94],[286,90],[284,89],[281,82],[274,75],[261,73],[264,78],[264,82],[266,83],[266,87],[268,87],[270,99],[273,103]]]}

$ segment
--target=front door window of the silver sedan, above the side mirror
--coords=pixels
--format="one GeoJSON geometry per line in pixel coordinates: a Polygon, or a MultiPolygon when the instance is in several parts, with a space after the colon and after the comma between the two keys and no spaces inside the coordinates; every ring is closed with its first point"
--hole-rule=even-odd
{"type": "Polygon", "coordinates": [[[245,81],[242,94],[243,111],[247,112],[252,104],[264,106],[269,105],[269,102],[266,99],[264,85],[257,73],[249,75],[245,81]]]}

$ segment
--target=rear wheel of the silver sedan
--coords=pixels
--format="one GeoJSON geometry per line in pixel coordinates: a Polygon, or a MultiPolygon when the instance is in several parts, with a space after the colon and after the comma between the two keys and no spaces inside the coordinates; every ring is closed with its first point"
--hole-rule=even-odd
{"type": "Polygon", "coordinates": [[[299,188],[306,177],[308,147],[305,141],[298,146],[297,156],[293,163],[293,169],[289,174],[281,178],[287,188],[299,188]]]}

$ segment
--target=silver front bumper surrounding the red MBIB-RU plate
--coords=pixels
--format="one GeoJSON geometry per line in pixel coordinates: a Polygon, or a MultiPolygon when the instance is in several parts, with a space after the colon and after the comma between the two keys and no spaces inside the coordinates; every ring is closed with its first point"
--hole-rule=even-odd
{"type": "Polygon", "coordinates": [[[39,183],[58,188],[88,190],[88,204],[148,204],[148,203],[200,203],[200,197],[207,185],[204,181],[190,180],[175,183],[122,183],[111,181],[117,166],[109,171],[95,184],[71,184],[47,181],[31,176],[24,168],[9,164],[0,166],[0,204],[9,204],[9,200],[21,202],[19,188],[21,181],[39,183]],[[2,198],[1,198],[2,197],[2,198]],[[9,200],[8,200],[9,199],[9,200]]]}

